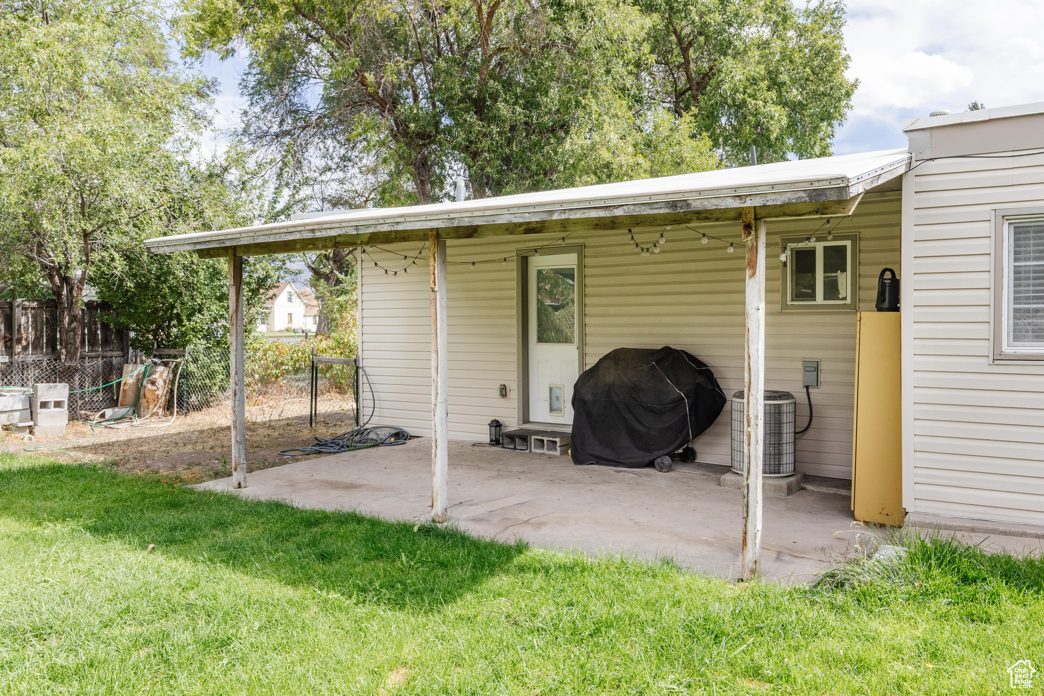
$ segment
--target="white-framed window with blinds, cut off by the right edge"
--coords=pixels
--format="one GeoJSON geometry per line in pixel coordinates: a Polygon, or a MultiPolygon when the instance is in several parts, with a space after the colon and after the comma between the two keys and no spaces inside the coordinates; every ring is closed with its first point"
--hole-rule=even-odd
{"type": "Polygon", "coordinates": [[[1044,354],[1044,215],[1003,221],[1002,353],[1044,354]]]}

